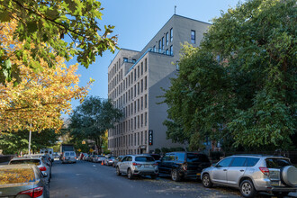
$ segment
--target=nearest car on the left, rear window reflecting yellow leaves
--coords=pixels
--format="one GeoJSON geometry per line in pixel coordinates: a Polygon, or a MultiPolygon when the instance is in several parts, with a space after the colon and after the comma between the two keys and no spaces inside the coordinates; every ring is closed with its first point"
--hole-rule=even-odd
{"type": "Polygon", "coordinates": [[[0,166],[1,197],[49,198],[49,184],[35,165],[0,166]],[[34,195],[34,196],[32,196],[34,195]]]}

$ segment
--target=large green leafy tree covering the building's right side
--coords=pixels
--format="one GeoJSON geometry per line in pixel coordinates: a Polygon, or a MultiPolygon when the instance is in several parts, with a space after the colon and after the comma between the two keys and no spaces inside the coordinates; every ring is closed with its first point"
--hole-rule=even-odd
{"type": "Polygon", "coordinates": [[[296,131],[295,0],[250,0],[186,46],[166,91],[167,137],[246,149],[288,148],[296,131]],[[177,126],[177,127],[175,127],[177,126]]]}

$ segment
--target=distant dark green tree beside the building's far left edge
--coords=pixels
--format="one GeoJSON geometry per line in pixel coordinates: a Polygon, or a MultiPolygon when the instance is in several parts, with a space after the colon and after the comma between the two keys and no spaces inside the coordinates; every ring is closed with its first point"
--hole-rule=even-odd
{"type": "Polygon", "coordinates": [[[120,119],[121,111],[113,107],[111,100],[90,96],[70,115],[68,130],[74,139],[93,139],[101,153],[105,131],[120,119]]]}

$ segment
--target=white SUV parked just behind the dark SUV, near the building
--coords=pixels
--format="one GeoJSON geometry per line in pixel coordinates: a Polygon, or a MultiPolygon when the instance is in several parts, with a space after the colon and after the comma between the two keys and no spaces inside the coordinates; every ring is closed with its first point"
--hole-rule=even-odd
{"type": "Polygon", "coordinates": [[[116,165],[116,175],[127,174],[129,179],[135,175],[150,175],[155,179],[158,175],[155,159],[148,155],[128,155],[116,165]]]}

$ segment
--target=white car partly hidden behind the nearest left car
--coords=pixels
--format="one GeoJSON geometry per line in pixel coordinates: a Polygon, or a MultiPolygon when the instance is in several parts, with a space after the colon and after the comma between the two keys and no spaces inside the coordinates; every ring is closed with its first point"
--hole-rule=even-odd
{"type": "Polygon", "coordinates": [[[14,157],[10,160],[8,165],[22,165],[22,164],[28,164],[28,165],[36,165],[42,174],[48,175],[47,181],[50,182],[51,178],[51,168],[46,163],[45,159],[42,157],[14,157]]]}

